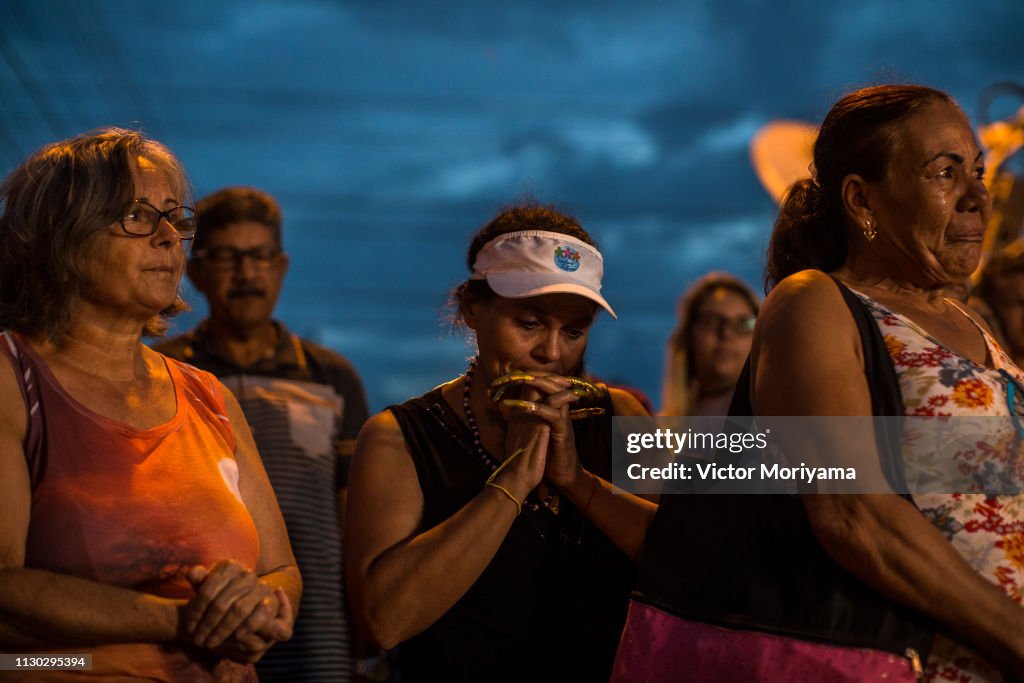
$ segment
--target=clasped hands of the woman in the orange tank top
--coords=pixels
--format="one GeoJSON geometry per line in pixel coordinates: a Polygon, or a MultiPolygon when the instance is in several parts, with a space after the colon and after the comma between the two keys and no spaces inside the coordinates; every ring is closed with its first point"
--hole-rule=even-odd
{"type": "Polygon", "coordinates": [[[222,560],[188,569],[196,597],[182,609],[187,642],[236,661],[256,661],[275,642],[292,637],[291,601],[252,569],[222,560]]]}

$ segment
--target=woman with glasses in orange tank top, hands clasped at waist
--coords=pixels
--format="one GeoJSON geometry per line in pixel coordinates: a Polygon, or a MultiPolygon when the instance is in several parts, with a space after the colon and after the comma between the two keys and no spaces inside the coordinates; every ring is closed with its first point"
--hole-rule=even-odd
{"type": "Polygon", "coordinates": [[[63,656],[48,681],[254,680],[301,592],[285,525],[231,394],[141,341],[184,308],[180,163],[104,129],[0,202],[0,650],[63,656]]]}

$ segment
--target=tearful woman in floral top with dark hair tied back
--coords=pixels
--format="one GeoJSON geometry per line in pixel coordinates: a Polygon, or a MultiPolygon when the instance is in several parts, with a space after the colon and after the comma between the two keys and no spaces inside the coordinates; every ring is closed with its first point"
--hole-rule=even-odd
{"type": "MultiPolygon", "coordinates": [[[[751,355],[755,413],[871,414],[861,338],[826,272],[868,305],[906,416],[1024,413],[1024,374],[980,316],[945,296],[977,267],[989,211],[982,155],[955,102],[919,86],[853,92],[822,123],[812,171],[791,190],[769,247],[772,291],[751,355]]],[[[986,483],[1019,475],[1007,452],[1020,436],[1014,421],[996,424],[957,450],[915,438],[907,420],[909,498],[804,497],[833,558],[938,624],[928,680],[1024,675],[1024,498],[986,483]]],[[[842,457],[874,445],[867,434],[829,447],[842,457]]]]}

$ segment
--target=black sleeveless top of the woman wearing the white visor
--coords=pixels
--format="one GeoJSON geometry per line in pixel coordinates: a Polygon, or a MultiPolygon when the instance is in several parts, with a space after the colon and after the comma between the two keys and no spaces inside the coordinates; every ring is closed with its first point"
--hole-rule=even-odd
{"type": "MultiPolygon", "coordinates": [[[[608,479],[611,400],[605,391],[587,404],[606,414],[573,423],[577,451],[584,467],[608,479]]],[[[489,472],[439,387],[389,410],[423,490],[423,531],[479,494],[489,472]]],[[[523,506],[466,595],[399,646],[403,683],[608,680],[633,566],[567,500],[559,508],[554,515],[523,506]]]]}

